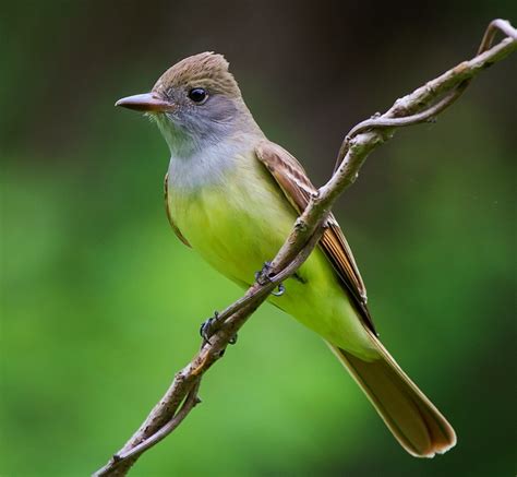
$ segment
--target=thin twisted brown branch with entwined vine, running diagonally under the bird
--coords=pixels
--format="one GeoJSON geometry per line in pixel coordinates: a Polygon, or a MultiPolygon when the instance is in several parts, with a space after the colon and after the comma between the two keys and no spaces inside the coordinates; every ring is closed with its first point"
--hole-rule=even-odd
{"type": "Polygon", "coordinates": [[[268,295],[311,254],[324,231],[332,206],[345,189],[354,182],[369,154],[392,139],[396,129],[432,121],[462,94],[477,74],[515,50],[517,31],[505,20],[494,20],[486,28],[474,58],[397,99],[385,114],[352,128],[342,141],[334,175],[298,217],[268,273],[263,273],[242,298],[217,315],[209,341],[204,342],[189,365],[176,374],[172,384],[140,429],[95,476],[127,475],[145,451],[172,432],[201,402],[197,391],[203,374],[223,357],[233,336],[268,295]],[[492,47],[497,32],[503,33],[505,38],[492,47]]]}

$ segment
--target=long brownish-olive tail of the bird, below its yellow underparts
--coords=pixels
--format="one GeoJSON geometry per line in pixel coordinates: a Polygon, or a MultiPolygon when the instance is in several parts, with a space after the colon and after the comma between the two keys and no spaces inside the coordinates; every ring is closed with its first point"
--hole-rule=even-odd
{"type": "Polygon", "coordinates": [[[364,361],[328,344],[350,371],[400,445],[416,457],[433,457],[456,444],[445,417],[372,335],[381,358],[364,361]]]}

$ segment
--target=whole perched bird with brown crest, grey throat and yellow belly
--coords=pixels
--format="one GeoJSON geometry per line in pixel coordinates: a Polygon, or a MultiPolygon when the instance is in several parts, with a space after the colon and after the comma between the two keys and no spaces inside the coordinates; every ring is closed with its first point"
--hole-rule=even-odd
{"type": "MultiPolygon", "coordinates": [[[[315,192],[305,171],[254,121],[220,55],[167,70],[151,93],[117,106],[145,111],[170,148],[170,224],[214,269],[248,288],[315,192]]],[[[402,448],[432,457],[455,445],[442,414],[377,338],[366,290],[334,216],[318,247],[269,301],[323,337],[402,448]]]]}

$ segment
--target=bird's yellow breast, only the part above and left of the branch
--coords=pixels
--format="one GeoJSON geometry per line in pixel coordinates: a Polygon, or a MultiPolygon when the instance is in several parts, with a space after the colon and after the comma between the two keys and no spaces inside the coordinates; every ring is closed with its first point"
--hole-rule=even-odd
{"type": "Polygon", "coordinates": [[[296,214],[258,163],[224,183],[171,188],[169,210],[192,248],[224,275],[251,284],[289,234],[296,214]]]}

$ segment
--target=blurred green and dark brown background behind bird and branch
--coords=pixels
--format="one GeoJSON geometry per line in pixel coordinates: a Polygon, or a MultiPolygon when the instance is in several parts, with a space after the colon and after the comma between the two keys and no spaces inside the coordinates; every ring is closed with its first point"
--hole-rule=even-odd
{"type": "MultiPolygon", "coordinates": [[[[517,19],[509,1],[4,3],[2,476],[101,466],[241,294],[169,229],[166,144],[119,97],[224,52],[266,134],[321,184],[354,123],[472,56],[491,19],[517,19]]],[[[265,305],[133,475],[515,474],[516,59],[376,151],[336,208],[383,342],[457,446],[407,455],[323,342],[265,305]]]]}

